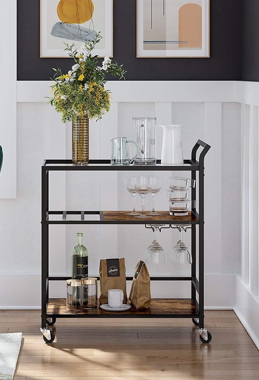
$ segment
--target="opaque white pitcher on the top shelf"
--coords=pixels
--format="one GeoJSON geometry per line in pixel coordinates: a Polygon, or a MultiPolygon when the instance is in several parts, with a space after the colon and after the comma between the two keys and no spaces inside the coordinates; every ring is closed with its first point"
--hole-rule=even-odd
{"type": "Polygon", "coordinates": [[[182,125],[160,125],[164,129],[161,164],[183,165],[182,125]]]}

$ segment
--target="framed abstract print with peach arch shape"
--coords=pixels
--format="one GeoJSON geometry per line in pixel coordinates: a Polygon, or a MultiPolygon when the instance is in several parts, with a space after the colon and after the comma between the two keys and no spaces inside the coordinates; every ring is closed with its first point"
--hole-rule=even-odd
{"type": "Polygon", "coordinates": [[[209,57],[210,0],[137,0],[137,57],[209,57]]]}

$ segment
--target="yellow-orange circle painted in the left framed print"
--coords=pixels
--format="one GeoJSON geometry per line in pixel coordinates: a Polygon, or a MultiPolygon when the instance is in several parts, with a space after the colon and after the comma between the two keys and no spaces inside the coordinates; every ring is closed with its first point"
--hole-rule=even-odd
{"type": "Polygon", "coordinates": [[[93,13],[91,0],[60,0],[57,6],[57,16],[67,24],[83,24],[91,19],[93,13]]]}

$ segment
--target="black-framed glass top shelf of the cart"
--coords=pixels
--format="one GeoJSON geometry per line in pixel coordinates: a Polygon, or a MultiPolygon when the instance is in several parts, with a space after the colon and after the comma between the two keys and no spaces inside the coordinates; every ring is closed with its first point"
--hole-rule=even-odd
{"type": "Polygon", "coordinates": [[[75,165],[72,160],[44,160],[41,169],[47,170],[87,170],[87,171],[174,171],[174,170],[199,170],[199,162],[194,160],[184,160],[183,165],[164,165],[161,160],[157,160],[156,165],[111,165],[110,160],[89,160],[88,164],[75,165]]]}

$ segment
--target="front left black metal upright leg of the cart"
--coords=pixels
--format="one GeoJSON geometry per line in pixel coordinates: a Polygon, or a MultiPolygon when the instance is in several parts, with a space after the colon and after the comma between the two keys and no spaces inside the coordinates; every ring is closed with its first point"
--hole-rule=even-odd
{"type": "Polygon", "coordinates": [[[48,284],[47,272],[47,224],[46,224],[46,209],[47,209],[47,171],[41,171],[41,328],[46,328],[46,304],[48,284]]]}

